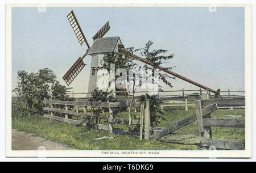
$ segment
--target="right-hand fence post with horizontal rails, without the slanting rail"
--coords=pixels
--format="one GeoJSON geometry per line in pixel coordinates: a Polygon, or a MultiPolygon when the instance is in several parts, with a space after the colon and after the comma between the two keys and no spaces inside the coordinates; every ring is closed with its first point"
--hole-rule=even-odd
{"type": "Polygon", "coordinates": [[[213,119],[210,113],[203,116],[203,107],[217,104],[219,107],[244,107],[245,99],[213,99],[213,100],[196,100],[196,117],[198,131],[201,133],[201,148],[208,149],[224,149],[224,150],[245,150],[244,142],[224,141],[212,138],[211,127],[229,127],[229,128],[245,128],[245,120],[242,119],[213,119]]]}

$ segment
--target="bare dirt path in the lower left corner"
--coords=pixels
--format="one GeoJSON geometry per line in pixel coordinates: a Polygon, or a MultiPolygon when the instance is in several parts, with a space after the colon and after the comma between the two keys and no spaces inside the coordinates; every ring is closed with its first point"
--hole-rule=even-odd
{"type": "Polygon", "coordinates": [[[13,150],[73,150],[64,144],[46,140],[32,133],[20,132],[13,129],[12,134],[11,147],[13,150]]]}

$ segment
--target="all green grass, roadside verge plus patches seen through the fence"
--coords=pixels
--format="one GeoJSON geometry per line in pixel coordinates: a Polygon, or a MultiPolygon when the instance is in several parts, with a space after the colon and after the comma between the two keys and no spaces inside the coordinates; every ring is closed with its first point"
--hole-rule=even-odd
{"type": "MultiPolygon", "coordinates": [[[[191,106],[188,111],[184,107],[167,107],[164,110],[167,121],[161,121],[158,126],[167,126],[195,112],[191,106]]],[[[139,112],[133,112],[138,117],[139,112]]],[[[126,112],[119,117],[127,117],[126,112]]],[[[220,109],[212,113],[212,117],[245,119],[245,109],[220,109]],[[231,117],[230,117],[231,116],[231,117]]],[[[100,130],[85,129],[81,126],[61,123],[35,116],[30,119],[13,119],[13,129],[31,132],[48,140],[63,142],[69,147],[80,150],[198,150],[200,133],[197,132],[196,122],[191,123],[173,134],[165,136],[160,141],[140,141],[137,136],[110,134],[100,130]],[[97,140],[99,137],[114,137],[113,139],[97,140]],[[171,143],[170,143],[171,142],[171,143]]],[[[115,128],[127,129],[127,125],[115,125],[115,128]]],[[[245,130],[235,128],[212,128],[213,138],[220,140],[245,141],[245,130]]]]}

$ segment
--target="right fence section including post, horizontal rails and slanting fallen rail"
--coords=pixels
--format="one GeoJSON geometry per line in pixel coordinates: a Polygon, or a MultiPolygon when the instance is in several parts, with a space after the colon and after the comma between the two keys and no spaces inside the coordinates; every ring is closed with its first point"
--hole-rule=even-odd
{"type": "Polygon", "coordinates": [[[210,113],[221,108],[230,107],[245,107],[245,98],[232,99],[210,99],[210,100],[196,100],[196,112],[191,115],[176,121],[169,126],[160,128],[157,133],[150,136],[151,140],[159,140],[167,134],[175,132],[194,121],[197,121],[198,130],[201,132],[201,146],[202,149],[209,149],[210,146],[215,146],[217,149],[226,150],[244,150],[245,144],[237,141],[221,141],[212,139],[211,126],[245,128],[245,120],[240,119],[211,119],[210,113]]]}

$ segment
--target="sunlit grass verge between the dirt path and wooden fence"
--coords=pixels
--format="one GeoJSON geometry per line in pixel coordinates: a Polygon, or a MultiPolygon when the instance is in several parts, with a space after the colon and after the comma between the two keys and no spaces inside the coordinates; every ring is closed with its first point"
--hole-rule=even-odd
{"type": "Polygon", "coordinates": [[[63,142],[80,150],[195,150],[196,145],[179,145],[159,141],[139,141],[138,137],[109,134],[99,130],[86,130],[81,126],[47,120],[40,117],[29,120],[13,120],[13,128],[35,133],[48,140],[63,142]],[[98,137],[114,137],[95,141],[98,137]]]}

